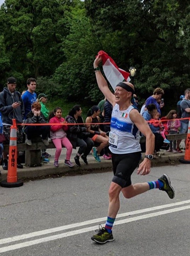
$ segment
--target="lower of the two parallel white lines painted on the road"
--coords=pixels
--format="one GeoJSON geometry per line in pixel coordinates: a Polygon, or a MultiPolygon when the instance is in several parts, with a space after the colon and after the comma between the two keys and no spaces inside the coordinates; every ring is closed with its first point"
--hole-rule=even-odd
{"type": "MultiPolygon", "coordinates": [[[[168,213],[173,213],[173,212],[178,212],[178,211],[184,211],[184,210],[187,210],[187,209],[190,209],[190,205],[183,206],[183,207],[178,207],[178,208],[173,208],[173,209],[168,209],[168,210],[164,210],[164,211],[160,211],[160,212],[144,214],[142,216],[136,216],[136,217],[132,217],[132,218],[118,220],[114,223],[114,225],[120,225],[120,224],[129,223],[129,222],[133,222],[133,221],[140,220],[140,219],[147,219],[147,218],[152,218],[152,217],[156,217],[156,216],[161,216],[163,214],[168,214],[168,213]]],[[[83,229],[78,229],[78,230],[72,230],[72,231],[65,232],[65,233],[58,234],[58,235],[52,235],[52,236],[48,236],[48,237],[45,237],[45,238],[40,238],[40,239],[27,241],[27,242],[24,242],[24,243],[19,243],[19,244],[15,244],[15,245],[1,247],[0,252],[16,250],[16,249],[20,249],[20,248],[23,248],[23,247],[44,243],[44,242],[47,242],[47,241],[53,241],[53,240],[61,239],[61,238],[67,237],[67,236],[82,234],[82,233],[85,233],[85,232],[92,231],[95,228],[96,228],[96,226],[83,228],[83,229]]]]}

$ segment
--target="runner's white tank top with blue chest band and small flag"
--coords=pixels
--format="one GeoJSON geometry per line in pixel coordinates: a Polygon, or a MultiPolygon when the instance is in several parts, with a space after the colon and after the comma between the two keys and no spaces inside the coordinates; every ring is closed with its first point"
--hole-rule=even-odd
{"type": "Polygon", "coordinates": [[[129,118],[133,105],[126,110],[119,110],[116,104],[112,110],[111,132],[109,134],[109,149],[114,154],[128,154],[141,151],[139,130],[129,118]]]}

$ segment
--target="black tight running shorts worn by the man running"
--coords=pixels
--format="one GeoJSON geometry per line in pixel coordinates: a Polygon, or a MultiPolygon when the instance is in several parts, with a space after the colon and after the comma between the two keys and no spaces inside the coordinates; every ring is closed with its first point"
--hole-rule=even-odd
{"type": "Polygon", "coordinates": [[[119,186],[128,187],[132,184],[131,175],[141,158],[141,152],[129,153],[129,154],[113,154],[113,179],[112,182],[119,186]]]}

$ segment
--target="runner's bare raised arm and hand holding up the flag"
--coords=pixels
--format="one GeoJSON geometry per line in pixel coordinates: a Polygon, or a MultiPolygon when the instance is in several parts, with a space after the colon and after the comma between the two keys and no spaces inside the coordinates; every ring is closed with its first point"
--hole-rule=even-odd
{"type": "MultiPolygon", "coordinates": [[[[97,67],[99,67],[101,60],[102,60],[101,56],[98,55],[97,58],[94,60],[94,69],[97,69],[97,67]]],[[[101,71],[95,70],[95,75],[96,75],[97,85],[100,88],[100,91],[104,94],[104,96],[112,104],[112,106],[114,106],[115,105],[115,97],[114,97],[113,93],[110,91],[110,89],[107,85],[107,82],[106,82],[104,76],[102,75],[101,71]]]]}

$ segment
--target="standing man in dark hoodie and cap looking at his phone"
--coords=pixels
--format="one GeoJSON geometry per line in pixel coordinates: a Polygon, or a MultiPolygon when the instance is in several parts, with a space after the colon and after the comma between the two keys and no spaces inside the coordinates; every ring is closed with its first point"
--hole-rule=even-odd
{"type": "MultiPolygon", "coordinates": [[[[2,113],[2,133],[4,134],[6,144],[10,142],[10,127],[12,125],[12,119],[16,119],[17,124],[22,124],[24,116],[24,104],[21,98],[21,94],[16,91],[16,78],[9,77],[7,79],[7,87],[4,87],[0,93],[0,111],[2,113]]],[[[17,143],[22,143],[22,126],[17,125],[17,143]]],[[[2,168],[8,170],[7,161],[8,152],[3,152],[2,168]]],[[[17,168],[23,168],[18,158],[19,152],[17,152],[17,168]]]]}

